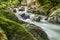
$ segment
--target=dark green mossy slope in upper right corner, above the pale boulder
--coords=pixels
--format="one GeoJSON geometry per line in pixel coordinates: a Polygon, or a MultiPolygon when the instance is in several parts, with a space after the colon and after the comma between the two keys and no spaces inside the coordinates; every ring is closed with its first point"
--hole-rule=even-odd
{"type": "Polygon", "coordinates": [[[40,8],[43,9],[49,16],[54,10],[60,8],[60,0],[38,0],[40,3],[40,8]]]}

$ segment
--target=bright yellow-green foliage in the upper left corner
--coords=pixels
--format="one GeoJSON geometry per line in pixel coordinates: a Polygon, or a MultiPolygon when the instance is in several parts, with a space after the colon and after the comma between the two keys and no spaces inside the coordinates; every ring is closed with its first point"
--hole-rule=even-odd
{"type": "Polygon", "coordinates": [[[22,0],[0,0],[0,4],[4,4],[7,6],[18,6],[21,5],[22,0]]]}

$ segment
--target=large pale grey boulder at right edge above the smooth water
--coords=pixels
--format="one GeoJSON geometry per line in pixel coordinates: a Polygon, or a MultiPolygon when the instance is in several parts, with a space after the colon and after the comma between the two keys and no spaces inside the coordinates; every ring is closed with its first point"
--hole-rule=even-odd
{"type": "Polygon", "coordinates": [[[60,23],[60,9],[55,10],[49,17],[48,21],[52,23],[60,23]]]}

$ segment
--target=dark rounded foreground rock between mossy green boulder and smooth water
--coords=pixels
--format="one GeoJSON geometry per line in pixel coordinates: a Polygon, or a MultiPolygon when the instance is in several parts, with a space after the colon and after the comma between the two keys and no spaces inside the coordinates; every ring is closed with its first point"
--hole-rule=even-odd
{"type": "Polygon", "coordinates": [[[29,23],[25,23],[24,26],[38,40],[49,40],[47,34],[43,31],[42,28],[29,23]]]}

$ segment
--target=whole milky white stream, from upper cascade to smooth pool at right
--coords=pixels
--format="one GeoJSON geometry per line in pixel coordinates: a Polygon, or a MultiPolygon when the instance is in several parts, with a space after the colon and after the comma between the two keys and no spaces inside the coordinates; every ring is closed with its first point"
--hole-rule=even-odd
{"type": "Polygon", "coordinates": [[[23,12],[18,11],[17,8],[16,8],[16,11],[17,11],[17,13],[15,15],[18,17],[19,20],[22,20],[24,22],[28,22],[31,24],[35,24],[35,25],[41,27],[47,33],[50,40],[60,40],[60,25],[48,23],[47,21],[44,20],[44,17],[41,20],[42,22],[34,21],[33,20],[34,14],[27,13],[27,7],[25,7],[25,11],[23,11],[23,12]],[[30,16],[30,19],[24,20],[20,16],[23,13],[28,14],[30,16]]]}

